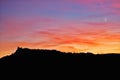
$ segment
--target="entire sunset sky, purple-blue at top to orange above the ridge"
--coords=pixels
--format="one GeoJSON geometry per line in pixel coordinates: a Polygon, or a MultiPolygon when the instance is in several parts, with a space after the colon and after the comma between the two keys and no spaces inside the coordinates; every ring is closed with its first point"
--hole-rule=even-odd
{"type": "Polygon", "coordinates": [[[0,57],[18,46],[120,53],[120,0],[0,0],[0,57]]]}

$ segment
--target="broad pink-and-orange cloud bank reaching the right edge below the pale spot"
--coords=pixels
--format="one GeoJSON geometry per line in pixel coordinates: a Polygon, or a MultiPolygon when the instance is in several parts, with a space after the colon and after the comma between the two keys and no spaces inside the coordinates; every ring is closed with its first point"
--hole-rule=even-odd
{"type": "MultiPolygon", "coordinates": [[[[73,25],[73,24],[69,24],[73,25]]],[[[79,25],[65,27],[59,26],[58,29],[48,29],[35,32],[34,37],[42,37],[46,43],[52,43],[56,45],[65,44],[79,44],[87,46],[99,46],[101,42],[119,41],[118,33],[111,33],[109,31],[115,31],[118,29],[118,24],[109,23],[88,23],[84,27],[79,25]],[[94,27],[93,27],[94,26],[94,27]],[[99,26],[99,27],[98,27],[99,26]],[[107,26],[107,27],[106,27],[107,26]],[[117,27],[115,27],[117,26],[117,27]],[[47,39],[46,39],[47,38],[47,39]],[[111,39],[110,39],[111,38],[111,39]]]]}

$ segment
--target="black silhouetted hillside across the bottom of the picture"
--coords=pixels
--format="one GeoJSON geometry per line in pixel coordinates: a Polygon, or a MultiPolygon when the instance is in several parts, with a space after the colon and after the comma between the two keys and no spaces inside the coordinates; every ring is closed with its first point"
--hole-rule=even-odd
{"type": "Polygon", "coordinates": [[[59,78],[63,74],[65,76],[69,74],[69,77],[73,75],[78,75],[78,77],[82,77],[82,75],[93,76],[95,74],[102,76],[108,73],[113,75],[119,70],[120,54],[73,54],[56,50],[18,48],[12,55],[0,59],[0,72],[2,74],[19,74],[22,77],[23,74],[28,75],[27,77],[38,75],[37,77],[40,79],[42,75],[48,76],[50,74],[53,77],[59,76],[59,78]]]}

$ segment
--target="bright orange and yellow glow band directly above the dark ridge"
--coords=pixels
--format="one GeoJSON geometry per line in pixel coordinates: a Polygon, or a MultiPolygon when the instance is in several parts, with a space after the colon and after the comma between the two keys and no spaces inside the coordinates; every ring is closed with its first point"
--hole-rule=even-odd
{"type": "MultiPolygon", "coordinates": [[[[83,30],[82,30],[83,31],[83,30]]],[[[71,32],[73,35],[55,34],[54,32],[36,32],[30,35],[36,40],[39,36],[46,36],[46,41],[31,42],[0,42],[0,57],[9,55],[18,46],[32,49],[56,49],[63,52],[93,52],[99,53],[120,53],[119,33],[109,33],[107,31],[71,32]],[[104,33],[103,33],[104,32],[104,33]],[[74,33],[74,34],[73,34],[74,33]],[[82,34],[82,35],[81,35],[82,34]]],[[[66,33],[67,34],[67,33],[66,33]]]]}

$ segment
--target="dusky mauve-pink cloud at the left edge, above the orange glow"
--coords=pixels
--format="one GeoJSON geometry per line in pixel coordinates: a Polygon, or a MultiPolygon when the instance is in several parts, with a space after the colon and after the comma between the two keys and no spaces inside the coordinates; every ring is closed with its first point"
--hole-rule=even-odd
{"type": "MultiPolygon", "coordinates": [[[[51,23],[54,20],[51,18],[35,17],[31,19],[16,19],[13,17],[4,18],[1,22],[0,32],[2,39],[12,39],[17,37],[28,36],[29,33],[33,32],[38,28],[40,23],[51,23]]],[[[41,27],[42,29],[42,27],[41,27]]]]}

